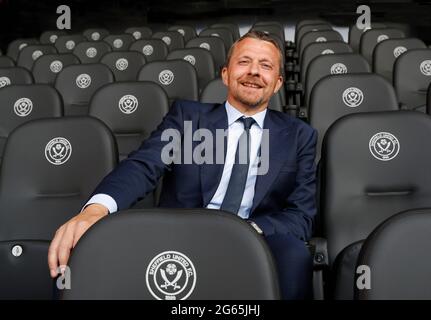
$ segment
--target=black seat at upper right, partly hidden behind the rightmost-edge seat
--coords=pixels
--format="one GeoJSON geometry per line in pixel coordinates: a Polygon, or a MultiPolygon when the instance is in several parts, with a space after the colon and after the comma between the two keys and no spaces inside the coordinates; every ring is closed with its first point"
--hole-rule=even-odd
{"type": "Polygon", "coordinates": [[[373,71],[392,83],[395,60],[411,49],[426,49],[426,45],[416,38],[388,39],[380,42],[373,53],[373,71]]]}

